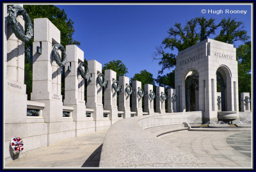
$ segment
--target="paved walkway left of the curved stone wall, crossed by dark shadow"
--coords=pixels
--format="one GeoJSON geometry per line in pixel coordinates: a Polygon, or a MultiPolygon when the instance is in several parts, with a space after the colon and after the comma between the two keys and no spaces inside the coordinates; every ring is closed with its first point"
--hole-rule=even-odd
{"type": "Polygon", "coordinates": [[[20,159],[6,163],[5,168],[99,167],[100,152],[106,132],[107,130],[90,132],[33,150],[26,153],[23,158],[20,155],[20,159]]]}

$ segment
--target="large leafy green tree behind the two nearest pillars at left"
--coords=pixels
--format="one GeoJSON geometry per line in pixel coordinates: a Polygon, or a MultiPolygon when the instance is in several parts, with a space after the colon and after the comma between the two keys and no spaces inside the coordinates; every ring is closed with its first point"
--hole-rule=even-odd
{"type": "MultiPolygon", "coordinates": [[[[72,38],[72,35],[75,32],[74,22],[71,19],[67,18],[67,14],[64,10],[54,5],[24,5],[23,8],[28,12],[28,15],[31,19],[32,24],[34,24],[34,19],[36,18],[47,18],[52,24],[54,24],[61,33],[61,45],[64,47],[66,45],[80,45],[80,42],[77,42],[72,38]]],[[[26,28],[25,28],[26,29],[26,28]]],[[[26,49],[32,45],[33,38],[26,42],[26,49]]],[[[26,55],[25,55],[26,56],[26,55]]],[[[61,94],[64,98],[64,79],[61,79],[61,94]]],[[[25,84],[26,92],[28,94],[28,100],[30,100],[30,93],[32,91],[32,65],[29,64],[28,59],[25,59],[25,84]]]]}

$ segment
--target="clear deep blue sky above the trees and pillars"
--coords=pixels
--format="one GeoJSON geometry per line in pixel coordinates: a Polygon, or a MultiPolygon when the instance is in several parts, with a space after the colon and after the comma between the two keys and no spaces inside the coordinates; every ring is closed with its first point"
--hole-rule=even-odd
{"type": "MultiPolygon", "coordinates": [[[[127,77],[147,70],[157,77],[161,66],[153,61],[156,47],[168,36],[168,29],[180,22],[182,26],[194,18],[211,17],[219,23],[231,17],[244,22],[244,29],[251,36],[250,5],[56,5],[64,9],[74,21],[74,40],[81,42],[84,58],[102,63],[120,59],[128,68],[127,77]],[[207,13],[201,11],[205,9],[207,13]],[[247,10],[246,14],[228,14],[225,10],[247,10]],[[211,14],[208,10],[222,10],[211,14]]],[[[211,38],[211,37],[210,37],[211,38]]],[[[214,36],[212,36],[214,38],[214,36]]],[[[241,42],[236,42],[236,47],[241,42]]],[[[172,52],[177,54],[177,50],[172,52]]],[[[164,74],[172,71],[165,70],[164,74]]]]}

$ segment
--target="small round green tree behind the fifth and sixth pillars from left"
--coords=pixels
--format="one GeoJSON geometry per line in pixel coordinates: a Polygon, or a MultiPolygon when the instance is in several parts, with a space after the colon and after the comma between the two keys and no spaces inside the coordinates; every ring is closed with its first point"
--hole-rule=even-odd
{"type": "Polygon", "coordinates": [[[111,69],[116,72],[116,79],[119,81],[120,76],[124,76],[128,73],[128,68],[122,63],[121,60],[113,60],[105,63],[102,67],[102,74],[105,74],[105,70],[111,69]]]}

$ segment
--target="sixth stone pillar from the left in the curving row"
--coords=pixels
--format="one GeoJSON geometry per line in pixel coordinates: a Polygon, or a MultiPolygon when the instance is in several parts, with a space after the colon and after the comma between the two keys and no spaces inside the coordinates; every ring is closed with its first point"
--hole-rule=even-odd
{"type": "Polygon", "coordinates": [[[129,77],[119,77],[120,91],[118,97],[118,111],[124,111],[123,118],[131,117],[130,95],[125,92],[125,88],[129,85],[129,77]]]}

